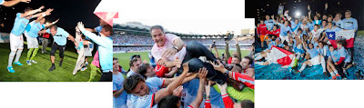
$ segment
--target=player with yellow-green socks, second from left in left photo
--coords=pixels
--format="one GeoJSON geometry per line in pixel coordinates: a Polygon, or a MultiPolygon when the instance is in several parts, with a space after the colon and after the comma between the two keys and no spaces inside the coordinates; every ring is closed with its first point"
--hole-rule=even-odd
{"type": "Polygon", "coordinates": [[[42,29],[44,29],[47,26],[54,25],[58,22],[56,20],[53,23],[45,25],[45,15],[50,15],[50,12],[52,12],[53,9],[47,9],[44,15],[39,16],[35,21],[31,22],[29,25],[25,28],[25,37],[26,42],[28,44],[28,53],[26,56],[26,64],[32,65],[36,64],[35,62],[35,55],[38,53],[39,47],[38,47],[38,40],[36,37],[38,37],[38,32],[42,29]]]}

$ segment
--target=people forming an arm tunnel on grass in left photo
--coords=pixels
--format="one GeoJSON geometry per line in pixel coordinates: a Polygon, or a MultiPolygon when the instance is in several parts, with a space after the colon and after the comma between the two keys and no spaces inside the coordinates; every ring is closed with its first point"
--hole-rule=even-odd
{"type": "MultiPolygon", "coordinates": [[[[0,3],[7,6],[12,6],[19,2],[29,3],[30,0],[0,1],[0,3]]],[[[97,26],[95,29],[85,28],[82,23],[78,23],[76,26],[76,33],[85,36],[83,38],[75,38],[71,34],[68,34],[66,30],[64,30],[63,28],[55,25],[58,22],[58,20],[56,20],[53,23],[45,24],[45,16],[51,15],[53,9],[47,9],[44,12],[42,12],[44,8],[45,6],[41,6],[37,9],[26,7],[24,13],[16,14],[15,23],[10,33],[11,53],[9,54],[8,65],[7,65],[8,72],[15,73],[15,69],[13,68],[12,64],[23,65],[19,61],[19,58],[24,49],[23,34],[26,37],[27,48],[28,48],[26,64],[32,65],[32,64],[37,64],[37,62],[35,62],[35,55],[39,50],[37,41],[38,34],[48,33],[51,34],[54,38],[54,43],[52,44],[50,51],[50,60],[52,65],[48,69],[48,71],[54,71],[56,69],[55,54],[57,49],[59,51],[59,57],[60,57],[59,66],[62,66],[65,56],[64,52],[67,39],[71,40],[75,44],[77,50],[81,48],[90,49],[90,50],[83,50],[85,54],[88,54],[88,56],[91,56],[92,52],[92,49],[89,48],[90,47],[89,45],[95,43],[97,45],[97,51],[96,54],[94,55],[94,61],[91,64],[91,75],[89,82],[94,80],[96,72],[100,73],[102,72],[100,81],[111,82],[112,81],[111,61],[112,61],[113,46],[112,46],[112,38],[110,37],[110,35],[113,34],[112,26],[107,25],[101,19],[100,19],[100,25],[97,26]],[[31,21],[32,19],[35,20],[31,21]],[[98,34],[93,34],[92,32],[96,32],[98,34]]],[[[87,60],[86,57],[84,57],[83,59],[87,60]]],[[[86,61],[79,66],[83,67],[83,69],[85,70],[87,64],[88,62],[86,61]]],[[[77,69],[76,71],[78,70],[81,70],[81,68],[77,69]]]]}

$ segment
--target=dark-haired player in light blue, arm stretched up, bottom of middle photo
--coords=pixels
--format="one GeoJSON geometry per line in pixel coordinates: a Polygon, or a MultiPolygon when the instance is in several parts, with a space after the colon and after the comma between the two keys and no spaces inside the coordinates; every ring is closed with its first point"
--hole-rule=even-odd
{"type": "Polygon", "coordinates": [[[188,64],[183,64],[183,68],[183,73],[172,83],[169,83],[167,88],[161,89],[164,83],[160,78],[155,77],[145,80],[141,75],[134,74],[126,78],[124,90],[126,93],[133,93],[137,96],[136,103],[134,103],[137,108],[153,107],[155,104],[159,103],[162,98],[171,94],[173,90],[181,85],[189,71],[188,64]]]}

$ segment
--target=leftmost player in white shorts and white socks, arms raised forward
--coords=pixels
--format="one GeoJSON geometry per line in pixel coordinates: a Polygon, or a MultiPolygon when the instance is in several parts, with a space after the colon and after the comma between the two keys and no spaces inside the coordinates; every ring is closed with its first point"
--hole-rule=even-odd
{"type": "Polygon", "coordinates": [[[8,60],[8,64],[7,64],[8,72],[15,73],[15,70],[12,65],[15,54],[16,54],[16,57],[15,57],[14,64],[23,65],[19,62],[19,58],[23,52],[23,46],[24,46],[24,44],[23,44],[24,40],[23,40],[22,34],[24,33],[25,27],[26,27],[26,25],[28,25],[29,20],[31,18],[43,15],[42,13],[34,15],[35,13],[41,12],[43,8],[45,8],[45,6],[41,6],[35,10],[33,10],[30,7],[26,7],[24,10],[25,13],[16,14],[15,23],[14,23],[13,29],[12,29],[12,31],[10,33],[10,37],[9,37],[11,52],[9,54],[9,60],[8,60]]]}

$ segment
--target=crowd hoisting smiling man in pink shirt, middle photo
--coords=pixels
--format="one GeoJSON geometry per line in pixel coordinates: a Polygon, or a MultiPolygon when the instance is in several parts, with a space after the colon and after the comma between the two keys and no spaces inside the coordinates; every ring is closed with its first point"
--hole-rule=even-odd
{"type": "Polygon", "coordinates": [[[115,108],[254,107],[251,57],[234,52],[221,59],[202,44],[185,44],[177,35],[166,34],[160,25],[152,26],[150,34],[155,42],[150,64],[135,54],[126,72],[114,58],[115,108]]]}

